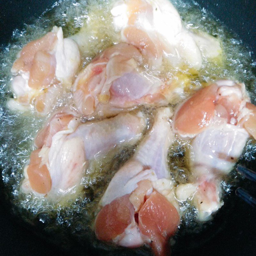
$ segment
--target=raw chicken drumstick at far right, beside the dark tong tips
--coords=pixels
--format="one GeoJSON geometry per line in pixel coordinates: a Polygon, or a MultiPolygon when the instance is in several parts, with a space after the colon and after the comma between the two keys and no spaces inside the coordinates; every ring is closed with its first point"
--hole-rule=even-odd
{"type": "Polygon", "coordinates": [[[221,80],[196,92],[177,108],[173,128],[183,138],[193,138],[189,150],[191,183],[181,184],[177,199],[194,199],[199,220],[207,220],[222,205],[220,181],[242,154],[250,134],[255,134],[255,106],[244,84],[221,80]]]}

